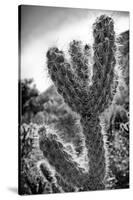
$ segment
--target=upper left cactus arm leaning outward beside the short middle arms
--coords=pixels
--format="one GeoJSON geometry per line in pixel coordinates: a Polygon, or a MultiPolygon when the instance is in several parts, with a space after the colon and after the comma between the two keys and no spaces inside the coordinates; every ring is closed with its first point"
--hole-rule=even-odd
{"type": "Polygon", "coordinates": [[[75,112],[82,110],[82,94],[85,92],[82,80],[78,81],[71,65],[65,60],[62,51],[49,49],[47,53],[48,71],[57,91],[75,112]]]}

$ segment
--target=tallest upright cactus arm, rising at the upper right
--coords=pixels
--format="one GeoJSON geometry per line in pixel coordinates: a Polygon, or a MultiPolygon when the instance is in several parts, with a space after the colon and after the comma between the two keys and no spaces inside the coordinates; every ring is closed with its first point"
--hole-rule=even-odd
{"type": "Polygon", "coordinates": [[[112,101],[112,84],[114,78],[115,61],[115,32],[112,18],[100,16],[93,25],[94,36],[94,65],[91,88],[98,110],[101,113],[112,101]],[[95,90],[94,90],[95,89],[95,90]],[[102,97],[102,98],[99,98],[102,97]]]}

